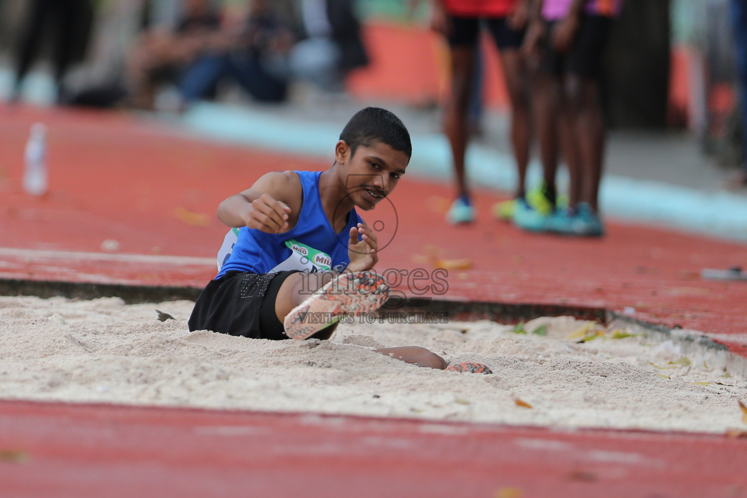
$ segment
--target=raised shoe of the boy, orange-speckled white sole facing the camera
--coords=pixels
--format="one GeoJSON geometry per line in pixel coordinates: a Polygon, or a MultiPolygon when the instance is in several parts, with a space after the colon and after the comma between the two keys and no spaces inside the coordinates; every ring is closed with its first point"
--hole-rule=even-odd
{"type": "Polygon", "coordinates": [[[285,335],[308,339],[347,315],[373,313],[389,296],[389,284],[375,272],[343,273],[311,294],[285,317],[285,335]]]}

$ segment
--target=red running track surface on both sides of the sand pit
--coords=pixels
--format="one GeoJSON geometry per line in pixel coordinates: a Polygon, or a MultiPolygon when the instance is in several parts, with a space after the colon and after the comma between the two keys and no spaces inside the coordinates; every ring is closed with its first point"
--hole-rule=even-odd
{"type": "MultiPolygon", "coordinates": [[[[0,278],[202,287],[223,198],[267,171],[324,167],[117,113],[0,108],[0,278]],[[50,130],[43,199],[21,190],[36,121],[50,130]]],[[[379,239],[394,235],[380,269],[469,258],[444,297],[633,307],[747,353],[747,284],[698,276],[743,264],[745,246],[615,222],[603,240],[525,234],[489,219],[488,192],[480,221],[455,228],[442,222],[450,197],[405,177],[388,214],[363,214],[385,221],[379,239]]],[[[0,402],[3,497],[740,497],[746,467],[747,441],[710,436],[0,402]]]]}

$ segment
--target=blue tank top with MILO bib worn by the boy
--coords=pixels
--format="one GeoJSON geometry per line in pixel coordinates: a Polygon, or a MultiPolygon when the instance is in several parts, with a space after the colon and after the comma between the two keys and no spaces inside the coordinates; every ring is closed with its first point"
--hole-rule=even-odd
{"type": "MultiPolygon", "coordinates": [[[[220,273],[231,270],[273,273],[282,270],[305,272],[340,271],[350,264],[347,241],[350,228],[363,222],[355,208],[348,214],[347,226],[339,234],[329,224],[319,196],[320,171],[296,171],[303,188],[303,205],[296,226],[282,234],[243,226],[230,253],[219,253],[220,273]]],[[[226,239],[235,233],[229,231],[226,239]]]]}

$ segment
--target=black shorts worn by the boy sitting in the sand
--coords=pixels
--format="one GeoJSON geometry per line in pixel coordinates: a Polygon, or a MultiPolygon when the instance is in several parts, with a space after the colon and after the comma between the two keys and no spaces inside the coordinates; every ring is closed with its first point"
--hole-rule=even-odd
{"type": "Polygon", "coordinates": [[[275,299],[285,278],[279,273],[226,272],[208,282],[194,303],[189,329],[211,330],[254,339],[288,339],[275,314],[275,299]]]}

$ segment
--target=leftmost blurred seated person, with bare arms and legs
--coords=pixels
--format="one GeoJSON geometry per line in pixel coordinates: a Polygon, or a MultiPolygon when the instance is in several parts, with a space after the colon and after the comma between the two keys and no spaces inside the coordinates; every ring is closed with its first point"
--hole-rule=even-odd
{"type": "Polygon", "coordinates": [[[152,110],[158,84],[179,79],[220,31],[220,15],[210,0],[182,0],[182,19],[173,32],[152,28],[128,60],[128,104],[152,110]]]}

